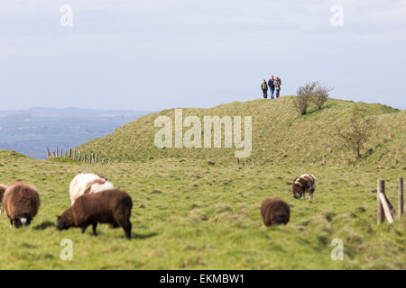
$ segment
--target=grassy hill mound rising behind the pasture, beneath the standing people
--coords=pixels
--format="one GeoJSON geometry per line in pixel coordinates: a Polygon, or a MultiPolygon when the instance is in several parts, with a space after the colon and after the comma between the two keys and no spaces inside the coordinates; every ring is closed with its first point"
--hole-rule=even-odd
{"type": "MultiPolygon", "coordinates": [[[[355,159],[352,152],[339,144],[337,126],[348,121],[354,102],[331,99],[318,111],[310,107],[300,116],[293,109],[292,96],[276,101],[260,99],[235,102],[210,109],[183,109],[183,119],[196,115],[220,117],[253,117],[253,152],[249,161],[256,164],[343,165],[355,159]]],[[[377,129],[366,145],[362,163],[367,165],[400,166],[406,162],[406,111],[374,103],[356,103],[366,114],[374,116],[377,129]]],[[[104,138],[93,139],[80,146],[88,153],[97,152],[121,161],[154,158],[200,158],[229,163],[235,160],[235,148],[157,148],[154,127],[158,116],[174,119],[174,109],[143,116],[104,138]]],[[[203,127],[203,123],[202,123],[203,127]]],[[[183,132],[189,130],[183,129],[183,132]]],[[[224,147],[224,146],[223,146],[224,147]]]]}

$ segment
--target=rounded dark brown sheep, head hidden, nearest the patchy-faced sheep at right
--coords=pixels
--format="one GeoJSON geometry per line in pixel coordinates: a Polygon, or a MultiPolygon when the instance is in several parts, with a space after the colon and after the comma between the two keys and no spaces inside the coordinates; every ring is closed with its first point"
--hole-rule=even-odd
{"type": "Polygon", "coordinates": [[[263,224],[265,226],[288,224],[291,218],[291,210],[287,202],[280,198],[265,199],[261,205],[263,224]]]}

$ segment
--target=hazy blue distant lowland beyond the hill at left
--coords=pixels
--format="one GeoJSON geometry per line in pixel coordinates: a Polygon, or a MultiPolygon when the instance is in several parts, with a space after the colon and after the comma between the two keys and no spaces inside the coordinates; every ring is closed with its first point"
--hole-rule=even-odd
{"type": "Polygon", "coordinates": [[[77,147],[147,113],[42,107],[0,111],[0,149],[44,159],[47,147],[77,147]]]}

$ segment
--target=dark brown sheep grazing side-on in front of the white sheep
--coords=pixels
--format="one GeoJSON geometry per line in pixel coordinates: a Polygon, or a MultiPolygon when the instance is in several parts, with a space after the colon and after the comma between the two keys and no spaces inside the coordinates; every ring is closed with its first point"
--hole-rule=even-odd
{"type": "Polygon", "coordinates": [[[96,235],[97,223],[107,223],[113,227],[122,227],[125,230],[125,238],[131,239],[132,208],[130,195],[123,191],[107,190],[84,194],[58,216],[57,229],[78,227],[84,233],[89,225],[93,225],[93,234],[96,235]]]}

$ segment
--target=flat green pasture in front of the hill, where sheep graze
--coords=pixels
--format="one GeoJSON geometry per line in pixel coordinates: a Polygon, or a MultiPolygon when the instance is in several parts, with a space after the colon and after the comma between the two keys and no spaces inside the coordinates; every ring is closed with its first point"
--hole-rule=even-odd
{"type": "Polygon", "coordinates": [[[376,180],[387,180],[395,204],[404,168],[214,162],[185,157],[90,166],[0,151],[0,182],[34,184],[42,201],[30,227],[10,229],[0,215],[0,268],[406,269],[405,218],[377,226],[374,215],[376,180]],[[131,241],[107,225],[97,237],[91,229],[84,235],[55,229],[79,172],[106,175],[131,194],[131,241]],[[303,172],[319,179],[313,202],[291,196],[291,181],[303,172]],[[263,226],[259,207],[273,196],[291,205],[287,226],[263,226]],[[73,241],[72,261],[60,260],[63,238],[73,241]],[[343,261],[330,257],[334,238],[344,241],[343,261]]]}

